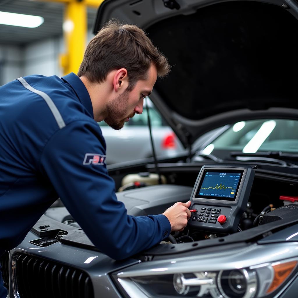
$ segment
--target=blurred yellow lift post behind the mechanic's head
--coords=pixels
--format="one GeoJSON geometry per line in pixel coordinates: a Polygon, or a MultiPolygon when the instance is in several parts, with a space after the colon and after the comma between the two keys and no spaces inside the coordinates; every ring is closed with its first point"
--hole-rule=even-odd
{"type": "MultiPolygon", "coordinates": [[[[39,0],[40,1],[40,0],[39,0]]],[[[66,53],[60,55],[63,74],[77,74],[86,47],[87,6],[98,8],[104,0],[42,0],[66,5],[63,19],[63,37],[66,53]]]]}

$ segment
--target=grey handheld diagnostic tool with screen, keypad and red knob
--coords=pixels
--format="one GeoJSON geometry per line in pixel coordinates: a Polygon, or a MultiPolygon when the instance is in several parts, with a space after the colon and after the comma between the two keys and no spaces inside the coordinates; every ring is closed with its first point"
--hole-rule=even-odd
{"type": "Polygon", "coordinates": [[[254,169],[248,165],[204,165],[191,195],[187,226],[215,233],[236,232],[246,209],[254,169]]]}

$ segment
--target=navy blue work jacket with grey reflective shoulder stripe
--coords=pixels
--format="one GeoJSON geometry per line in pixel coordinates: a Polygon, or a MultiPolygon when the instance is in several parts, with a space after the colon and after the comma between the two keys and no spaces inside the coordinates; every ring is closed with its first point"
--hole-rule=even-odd
{"type": "MultiPolygon", "coordinates": [[[[124,259],[170,233],[164,215],[130,216],[105,166],[105,140],[74,74],[32,75],[0,87],[0,254],[61,198],[103,253],[124,259]]],[[[0,298],[6,289],[0,273],[0,298]]]]}

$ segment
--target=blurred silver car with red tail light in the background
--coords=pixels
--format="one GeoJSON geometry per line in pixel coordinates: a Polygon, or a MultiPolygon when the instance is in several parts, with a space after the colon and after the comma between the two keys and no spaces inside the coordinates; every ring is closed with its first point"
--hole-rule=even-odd
{"type": "Polygon", "coordinates": [[[104,121],[99,122],[107,146],[106,164],[137,161],[153,156],[148,129],[148,102],[156,156],[175,157],[185,152],[172,128],[167,125],[149,98],[145,99],[143,113],[135,115],[121,130],[114,130],[104,121]]]}

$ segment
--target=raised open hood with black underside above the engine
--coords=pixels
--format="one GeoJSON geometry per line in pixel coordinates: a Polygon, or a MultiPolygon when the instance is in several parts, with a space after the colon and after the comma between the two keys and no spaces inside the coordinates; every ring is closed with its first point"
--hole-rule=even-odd
{"type": "Polygon", "coordinates": [[[111,18],[143,28],[169,59],[150,99],[185,147],[237,121],[298,119],[295,0],[105,0],[94,33],[111,18]]]}

